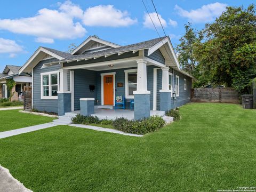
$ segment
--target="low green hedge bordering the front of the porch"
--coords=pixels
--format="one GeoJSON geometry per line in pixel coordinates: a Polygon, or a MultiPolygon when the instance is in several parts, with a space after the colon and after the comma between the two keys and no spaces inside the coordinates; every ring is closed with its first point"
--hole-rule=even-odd
{"type": "Polygon", "coordinates": [[[72,118],[74,124],[99,124],[99,125],[113,125],[114,129],[123,131],[125,133],[146,134],[154,132],[164,126],[165,121],[162,117],[151,116],[142,121],[132,121],[124,117],[116,120],[102,119],[93,116],[83,116],[78,114],[72,118]]]}

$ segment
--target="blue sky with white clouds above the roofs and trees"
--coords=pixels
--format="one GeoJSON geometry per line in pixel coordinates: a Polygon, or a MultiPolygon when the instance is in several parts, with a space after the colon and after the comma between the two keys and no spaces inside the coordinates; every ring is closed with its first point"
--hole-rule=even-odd
{"type": "MultiPolygon", "coordinates": [[[[144,0],[161,36],[163,30],[151,0],[144,0]]],[[[201,29],[226,6],[247,7],[252,1],[154,1],[173,46],[184,34],[184,24],[201,29]]],[[[157,38],[140,0],[129,1],[3,1],[0,6],[0,73],[5,65],[22,66],[38,48],[67,51],[89,35],[127,45],[157,38]]]]}

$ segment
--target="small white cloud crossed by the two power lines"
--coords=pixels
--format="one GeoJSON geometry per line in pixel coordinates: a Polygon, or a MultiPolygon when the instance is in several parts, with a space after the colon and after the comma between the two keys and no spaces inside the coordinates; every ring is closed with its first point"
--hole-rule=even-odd
{"type": "Polygon", "coordinates": [[[154,29],[154,25],[151,21],[151,19],[153,20],[156,28],[159,28],[161,27],[161,23],[163,25],[163,27],[166,27],[167,26],[167,23],[166,21],[162,18],[162,16],[160,14],[158,14],[158,17],[161,21],[161,23],[159,22],[158,18],[157,18],[157,13],[156,12],[153,12],[153,13],[145,13],[144,14],[144,22],[143,22],[143,26],[146,27],[146,28],[151,28],[151,29],[154,29]],[[149,16],[150,15],[150,16],[149,16]]]}

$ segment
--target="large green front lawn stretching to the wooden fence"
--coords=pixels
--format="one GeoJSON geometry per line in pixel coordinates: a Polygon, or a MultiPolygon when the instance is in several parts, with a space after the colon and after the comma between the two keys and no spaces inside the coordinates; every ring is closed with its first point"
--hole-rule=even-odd
{"type": "Polygon", "coordinates": [[[33,191],[217,191],[255,186],[256,110],[191,103],[142,138],[57,126],[0,139],[0,164],[33,191]]]}

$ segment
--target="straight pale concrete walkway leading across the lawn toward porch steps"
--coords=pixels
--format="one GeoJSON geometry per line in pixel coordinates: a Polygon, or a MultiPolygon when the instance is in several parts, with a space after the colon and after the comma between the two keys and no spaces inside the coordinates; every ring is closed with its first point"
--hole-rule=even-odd
{"type": "Polygon", "coordinates": [[[11,137],[13,135],[18,135],[18,134],[22,134],[22,133],[28,133],[28,132],[32,132],[32,131],[46,129],[46,128],[57,126],[57,125],[59,125],[59,124],[44,123],[44,124],[40,124],[40,125],[29,126],[29,127],[25,127],[25,128],[21,128],[21,129],[11,130],[11,131],[4,131],[4,132],[0,132],[0,139],[6,138],[6,137],[11,137]]]}

